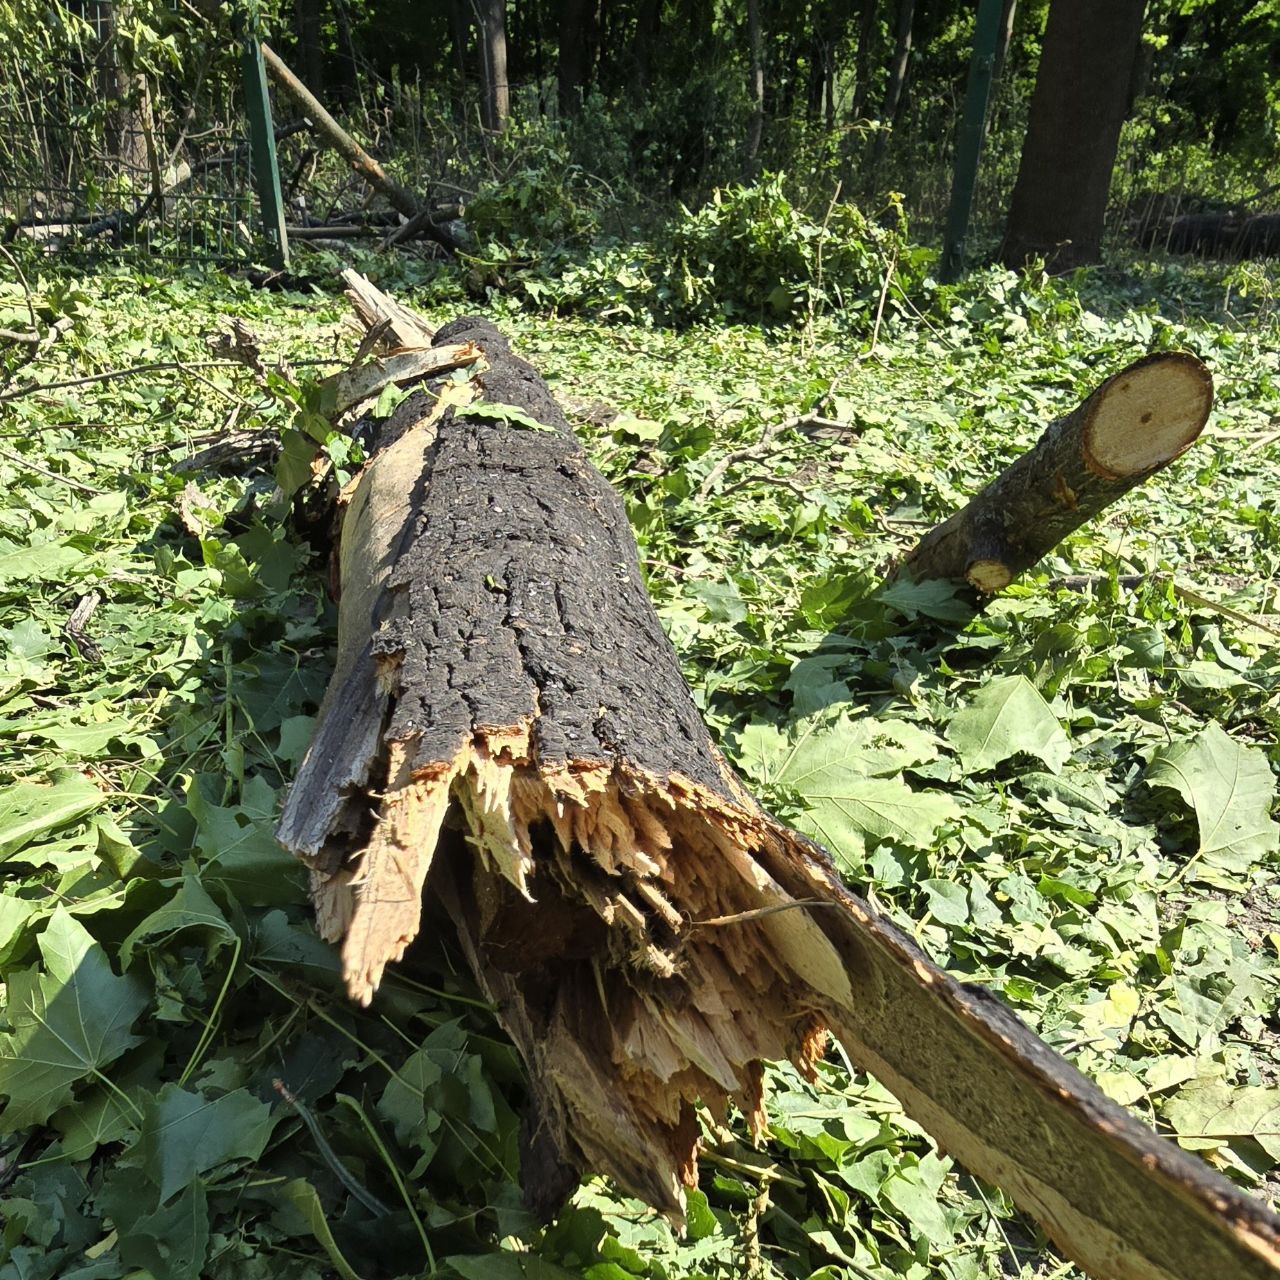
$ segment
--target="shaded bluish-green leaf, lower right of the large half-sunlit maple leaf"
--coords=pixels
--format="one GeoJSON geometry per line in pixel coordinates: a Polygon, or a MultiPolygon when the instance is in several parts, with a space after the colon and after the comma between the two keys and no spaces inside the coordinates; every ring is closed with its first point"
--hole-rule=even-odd
{"type": "Polygon", "coordinates": [[[218,1165],[257,1160],[274,1126],[271,1108],[247,1089],[210,1101],[166,1084],[142,1117],[142,1170],[160,1188],[163,1204],[218,1165]]]}

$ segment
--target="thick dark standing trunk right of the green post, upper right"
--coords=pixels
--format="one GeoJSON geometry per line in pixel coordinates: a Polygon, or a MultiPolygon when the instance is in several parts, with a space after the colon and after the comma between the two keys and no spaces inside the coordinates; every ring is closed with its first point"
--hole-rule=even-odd
{"type": "Polygon", "coordinates": [[[1097,262],[1144,0],[1051,0],[1001,260],[1097,262]]]}

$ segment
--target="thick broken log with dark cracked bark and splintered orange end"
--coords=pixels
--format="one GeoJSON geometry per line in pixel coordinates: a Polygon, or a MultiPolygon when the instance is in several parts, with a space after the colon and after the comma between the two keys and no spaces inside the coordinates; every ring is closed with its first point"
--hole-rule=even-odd
{"type": "Polygon", "coordinates": [[[424,887],[447,905],[529,1069],[534,1206],[594,1170],[678,1220],[695,1102],[762,1132],[762,1064],[812,1073],[829,1029],[1094,1275],[1275,1280],[1261,1203],[934,968],[760,810],[545,384],[484,321],[435,342],[476,343],[484,397],[548,430],[467,417],[447,385],[431,411],[401,406],[346,516],[338,668],[279,835],[362,1002],[424,887]]]}

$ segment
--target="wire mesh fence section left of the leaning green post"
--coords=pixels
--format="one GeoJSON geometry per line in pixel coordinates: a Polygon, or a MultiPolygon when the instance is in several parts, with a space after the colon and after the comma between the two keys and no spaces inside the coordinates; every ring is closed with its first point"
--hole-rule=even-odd
{"type": "Polygon", "coordinates": [[[46,253],[252,256],[243,106],[207,50],[136,69],[115,0],[54,0],[42,56],[0,50],[0,228],[46,253]]]}

